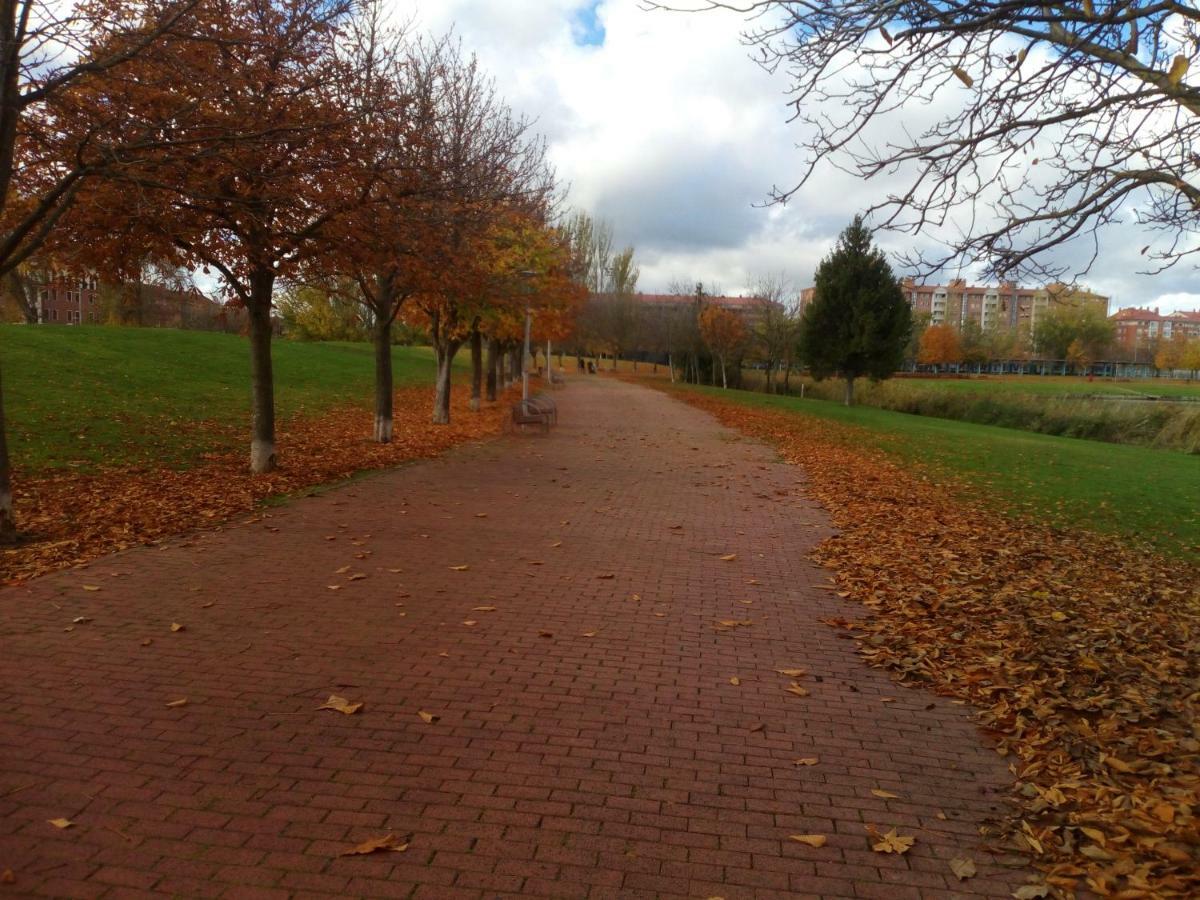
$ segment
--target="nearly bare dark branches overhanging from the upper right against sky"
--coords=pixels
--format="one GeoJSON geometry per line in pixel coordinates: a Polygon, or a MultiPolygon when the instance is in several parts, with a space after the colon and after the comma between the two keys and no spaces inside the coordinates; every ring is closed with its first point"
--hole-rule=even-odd
{"type": "Polygon", "coordinates": [[[686,0],[656,8],[751,17],[757,60],[793,79],[806,166],[898,184],[869,211],[944,250],[930,272],[998,278],[1087,271],[1100,233],[1132,220],[1158,270],[1200,252],[1200,8],[1175,0],[686,0]],[[913,110],[947,112],[910,130],[913,110]],[[986,215],[990,210],[991,215],[986,215]],[[1085,245],[1068,265],[1063,245],[1085,245]]]}

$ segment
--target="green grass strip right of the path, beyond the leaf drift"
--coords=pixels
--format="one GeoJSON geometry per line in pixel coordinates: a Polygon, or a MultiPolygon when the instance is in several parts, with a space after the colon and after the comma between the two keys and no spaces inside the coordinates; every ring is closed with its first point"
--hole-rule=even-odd
{"type": "Polygon", "coordinates": [[[692,388],[750,407],[782,409],[860,430],[864,443],[934,476],[959,480],[972,497],[1058,526],[1140,538],[1200,560],[1200,458],[1015,428],[847,409],[822,400],[692,388]]]}

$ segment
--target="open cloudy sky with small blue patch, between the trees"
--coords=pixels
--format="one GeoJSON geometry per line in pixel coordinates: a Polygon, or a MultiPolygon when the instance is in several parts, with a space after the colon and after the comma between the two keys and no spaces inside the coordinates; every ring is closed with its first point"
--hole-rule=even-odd
{"type": "MultiPolygon", "coordinates": [[[[647,12],[638,0],[390,0],[421,31],[454,28],[500,92],[536,118],[571,205],[608,220],[641,263],[638,287],[703,281],[728,294],[758,276],[811,283],[821,257],[878,188],[823,173],[763,206],[802,158],[784,76],[756,66],[736,14],[647,12]]],[[[1115,229],[1084,280],[1112,307],[1200,308],[1188,265],[1134,272],[1146,241],[1115,229]]],[[[893,250],[904,235],[882,235],[893,250]]]]}

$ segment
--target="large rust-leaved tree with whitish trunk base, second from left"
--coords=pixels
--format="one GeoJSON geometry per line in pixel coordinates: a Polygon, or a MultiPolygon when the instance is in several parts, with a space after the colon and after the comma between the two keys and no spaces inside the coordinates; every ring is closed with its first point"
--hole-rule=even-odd
{"type": "Polygon", "coordinates": [[[246,308],[256,473],[276,467],[276,282],[300,272],[332,239],[337,217],[370,194],[358,155],[374,138],[361,106],[344,103],[356,82],[340,52],[353,8],[352,0],[205,0],[192,28],[208,41],[139,60],[139,74],[172,79],[130,79],[107,96],[132,108],[184,98],[193,113],[175,140],[211,148],[198,160],[164,154],[132,170],[144,192],[133,223],[174,262],[218,274],[246,308]]]}

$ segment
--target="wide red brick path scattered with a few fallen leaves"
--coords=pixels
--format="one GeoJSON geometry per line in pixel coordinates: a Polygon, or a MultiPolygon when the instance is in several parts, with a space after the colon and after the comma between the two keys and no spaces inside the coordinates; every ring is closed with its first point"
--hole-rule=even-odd
{"type": "Polygon", "coordinates": [[[1020,883],[977,847],[1007,773],[966,712],[820,624],[847,610],[805,560],[828,528],[800,473],[658,392],[557,397],[548,438],[0,594],[0,898],[1020,883]],[[330,694],[365,707],[318,712],[330,694]],[[916,847],[874,853],[866,823],[916,847]],[[389,832],[409,850],[338,857],[389,832]]]}

